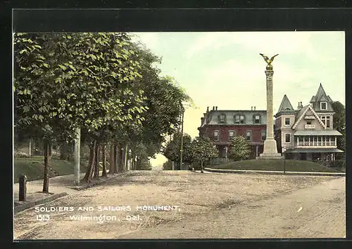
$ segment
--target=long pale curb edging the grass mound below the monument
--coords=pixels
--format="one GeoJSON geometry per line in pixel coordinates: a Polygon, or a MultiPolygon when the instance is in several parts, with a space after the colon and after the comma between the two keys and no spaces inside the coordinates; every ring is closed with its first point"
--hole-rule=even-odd
{"type": "MultiPolygon", "coordinates": [[[[283,171],[269,171],[269,170],[220,170],[204,168],[205,171],[214,173],[232,173],[232,174],[284,174],[283,171]]],[[[319,176],[319,177],[346,177],[346,173],[334,172],[292,172],[287,171],[287,175],[305,175],[305,176],[319,176]]]]}

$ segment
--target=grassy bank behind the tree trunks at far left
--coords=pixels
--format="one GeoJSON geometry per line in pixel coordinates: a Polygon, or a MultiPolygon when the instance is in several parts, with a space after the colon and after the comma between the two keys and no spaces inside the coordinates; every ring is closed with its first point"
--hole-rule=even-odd
{"type": "MultiPolygon", "coordinates": [[[[66,160],[49,159],[49,167],[51,167],[56,175],[74,174],[75,164],[66,160]]],[[[81,166],[81,172],[85,167],[81,166]]],[[[14,177],[15,183],[21,174],[27,176],[28,181],[43,179],[44,176],[44,157],[36,156],[34,158],[15,158],[14,160],[14,177]]],[[[49,171],[49,177],[54,177],[55,174],[49,171]]]]}

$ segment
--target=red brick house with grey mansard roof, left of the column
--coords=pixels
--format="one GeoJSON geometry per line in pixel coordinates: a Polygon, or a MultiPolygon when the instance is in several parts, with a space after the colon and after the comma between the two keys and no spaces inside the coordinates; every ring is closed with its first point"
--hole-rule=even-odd
{"type": "Polygon", "coordinates": [[[219,158],[227,158],[234,136],[244,136],[251,145],[251,158],[263,153],[266,136],[266,110],[212,110],[201,117],[199,136],[207,136],[216,145],[219,158]]]}

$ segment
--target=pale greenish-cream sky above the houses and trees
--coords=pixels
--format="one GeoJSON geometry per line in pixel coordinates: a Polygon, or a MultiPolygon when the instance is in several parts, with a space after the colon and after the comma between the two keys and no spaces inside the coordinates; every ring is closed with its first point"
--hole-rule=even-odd
{"type": "MultiPolygon", "coordinates": [[[[344,32],[134,32],[162,58],[161,75],[174,77],[196,108],[184,113],[184,132],[198,136],[207,106],[218,110],[266,110],[266,63],[273,61],[273,109],[284,94],[303,106],[320,83],[332,101],[345,105],[344,32]]],[[[165,162],[162,155],[153,166],[165,162]]]]}

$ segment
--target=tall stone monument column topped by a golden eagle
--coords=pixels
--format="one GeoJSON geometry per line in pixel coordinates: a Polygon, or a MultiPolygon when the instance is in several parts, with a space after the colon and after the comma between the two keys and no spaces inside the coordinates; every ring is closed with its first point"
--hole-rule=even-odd
{"type": "MultiPolygon", "coordinates": [[[[264,141],[263,153],[261,153],[257,159],[282,159],[283,156],[277,153],[277,145],[274,138],[274,115],[272,110],[272,76],[274,75],[274,70],[272,69],[272,58],[268,58],[260,53],[268,65],[266,66],[266,139],[264,141]]],[[[276,55],[277,56],[277,55],[276,55]]]]}

